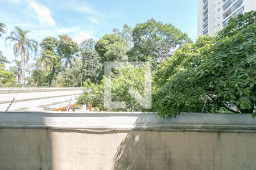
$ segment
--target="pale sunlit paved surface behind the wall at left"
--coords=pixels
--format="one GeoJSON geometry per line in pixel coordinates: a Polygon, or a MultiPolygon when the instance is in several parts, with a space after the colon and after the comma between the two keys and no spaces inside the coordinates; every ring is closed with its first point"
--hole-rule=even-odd
{"type": "Polygon", "coordinates": [[[9,111],[53,111],[76,102],[81,88],[6,88],[0,89],[0,111],[5,111],[11,100],[9,111]]]}

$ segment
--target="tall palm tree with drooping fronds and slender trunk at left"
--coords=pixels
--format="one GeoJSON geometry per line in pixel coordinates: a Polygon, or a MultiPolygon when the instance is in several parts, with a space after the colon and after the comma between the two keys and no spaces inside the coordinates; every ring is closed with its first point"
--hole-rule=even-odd
{"type": "Polygon", "coordinates": [[[15,27],[14,31],[10,33],[10,36],[5,39],[5,42],[9,40],[10,44],[11,42],[14,42],[14,56],[21,57],[22,84],[25,83],[25,63],[30,57],[30,52],[36,53],[38,50],[38,42],[33,39],[28,39],[27,33],[28,31],[15,27]]]}

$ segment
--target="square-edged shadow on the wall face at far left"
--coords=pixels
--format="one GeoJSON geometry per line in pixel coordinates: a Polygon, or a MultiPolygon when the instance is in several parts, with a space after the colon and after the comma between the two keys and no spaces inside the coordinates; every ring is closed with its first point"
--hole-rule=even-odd
{"type": "Polygon", "coordinates": [[[0,169],[51,169],[51,133],[46,129],[0,128],[0,169]]]}

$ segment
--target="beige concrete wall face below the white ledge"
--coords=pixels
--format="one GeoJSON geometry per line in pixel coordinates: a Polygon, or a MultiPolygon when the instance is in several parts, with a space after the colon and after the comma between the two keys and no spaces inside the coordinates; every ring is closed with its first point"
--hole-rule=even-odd
{"type": "Polygon", "coordinates": [[[255,169],[255,133],[0,129],[0,169],[255,169]]]}

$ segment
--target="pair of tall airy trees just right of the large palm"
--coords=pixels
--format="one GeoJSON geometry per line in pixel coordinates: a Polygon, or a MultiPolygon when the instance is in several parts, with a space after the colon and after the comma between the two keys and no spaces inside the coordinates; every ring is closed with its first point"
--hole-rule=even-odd
{"type": "MultiPolygon", "coordinates": [[[[80,86],[81,78],[77,79],[77,66],[72,62],[79,51],[78,45],[67,35],[59,36],[59,40],[55,37],[46,37],[40,43],[42,48],[40,58],[38,58],[36,69],[32,74],[32,81],[35,81],[39,86],[80,86]],[[61,66],[64,66],[63,76],[59,76],[59,84],[54,82],[59,73],[61,66]],[[76,74],[75,74],[76,73],[76,74]],[[38,74],[38,75],[36,75],[38,74]],[[60,82],[63,80],[64,82],[60,82]],[[72,83],[71,83],[72,82],[72,83]],[[79,83],[77,83],[79,82],[79,83]],[[80,84],[80,85],[79,85],[80,84]]],[[[79,66],[81,70],[81,66],[79,66]]],[[[80,75],[80,73],[79,73],[80,75]]]]}

